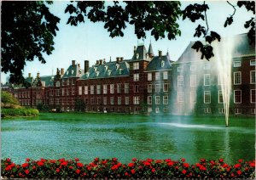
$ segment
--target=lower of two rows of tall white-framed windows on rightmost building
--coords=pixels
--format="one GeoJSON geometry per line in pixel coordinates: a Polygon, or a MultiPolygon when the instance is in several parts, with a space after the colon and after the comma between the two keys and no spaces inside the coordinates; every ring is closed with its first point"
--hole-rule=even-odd
{"type": "MultiPolygon", "coordinates": [[[[250,90],[250,103],[255,104],[256,99],[256,90],[251,89],[250,90]]],[[[183,103],[184,102],[184,93],[183,92],[177,92],[177,102],[183,103]]],[[[196,93],[190,92],[190,103],[196,102],[196,93]]],[[[211,103],[211,91],[204,91],[204,104],[210,104],[211,103]]],[[[223,104],[223,93],[222,91],[218,91],[218,103],[223,104]]],[[[241,90],[234,90],[234,103],[235,104],[241,104],[241,90]]]]}

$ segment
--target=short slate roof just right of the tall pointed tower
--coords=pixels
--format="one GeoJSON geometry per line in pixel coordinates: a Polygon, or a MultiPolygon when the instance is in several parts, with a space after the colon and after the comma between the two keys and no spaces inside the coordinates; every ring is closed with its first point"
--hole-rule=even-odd
{"type": "Polygon", "coordinates": [[[172,68],[172,61],[168,53],[164,56],[154,56],[154,58],[149,62],[146,71],[155,70],[170,70],[172,68]],[[164,63],[162,66],[162,62],[164,63]]]}

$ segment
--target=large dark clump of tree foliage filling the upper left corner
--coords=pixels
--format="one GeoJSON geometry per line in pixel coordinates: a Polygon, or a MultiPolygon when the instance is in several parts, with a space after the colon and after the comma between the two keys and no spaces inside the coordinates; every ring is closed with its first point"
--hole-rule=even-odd
{"type": "Polygon", "coordinates": [[[38,59],[54,50],[54,37],[60,19],[43,2],[2,2],[2,71],[10,72],[10,82],[25,82],[22,70],[26,61],[38,59]]]}

